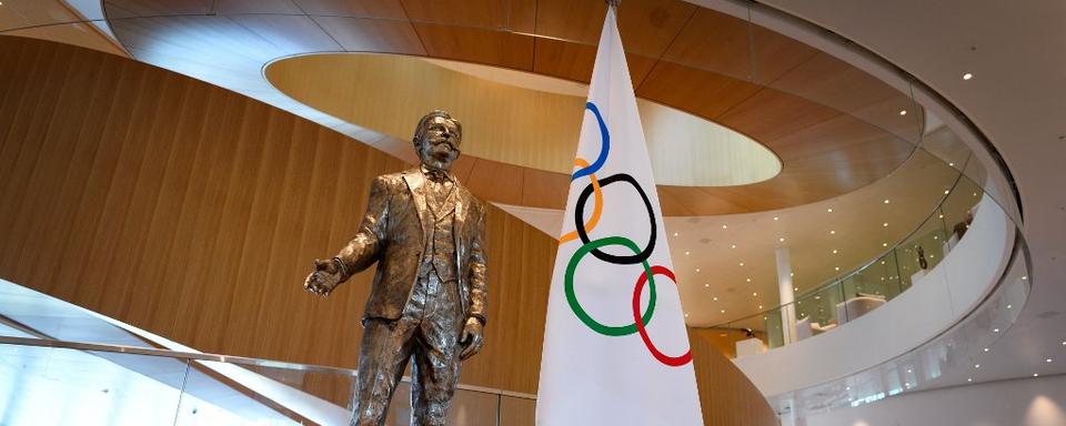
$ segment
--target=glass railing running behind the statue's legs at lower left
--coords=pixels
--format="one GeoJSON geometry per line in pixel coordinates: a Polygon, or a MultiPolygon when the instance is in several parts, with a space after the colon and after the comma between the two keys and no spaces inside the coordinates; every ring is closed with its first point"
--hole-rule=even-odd
{"type": "MultiPolygon", "coordinates": [[[[346,425],[355,372],[316,365],[0,336],[3,425],[346,425]]],[[[409,384],[386,425],[406,425],[409,384]]],[[[450,425],[532,425],[535,397],[460,385],[450,425]]]]}

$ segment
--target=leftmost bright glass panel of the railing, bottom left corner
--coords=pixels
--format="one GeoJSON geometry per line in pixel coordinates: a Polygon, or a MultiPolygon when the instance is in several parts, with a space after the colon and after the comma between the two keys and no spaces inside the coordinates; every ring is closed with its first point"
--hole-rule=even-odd
{"type": "Polygon", "coordinates": [[[0,424],[169,425],[187,371],[182,359],[0,344],[0,424]]]}

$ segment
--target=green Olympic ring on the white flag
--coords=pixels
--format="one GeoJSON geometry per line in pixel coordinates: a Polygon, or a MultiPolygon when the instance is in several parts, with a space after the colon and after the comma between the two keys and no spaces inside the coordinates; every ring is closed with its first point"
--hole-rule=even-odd
{"type": "MultiPolygon", "coordinates": [[[[577,302],[577,295],[574,294],[574,271],[577,270],[577,264],[581,263],[581,258],[593,250],[603,247],[605,245],[623,245],[632,250],[633,253],[641,253],[641,247],[637,246],[632,240],[624,236],[607,236],[604,239],[590,241],[585,245],[582,245],[576,252],[574,252],[573,256],[570,257],[570,264],[566,265],[566,275],[563,282],[563,287],[566,292],[566,302],[570,303],[570,308],[574,311],[574,315],[577,315],[577,320],[581,320],[582,323],[587,325],[589,328],[592,328],[594,332],[605,336],[626,336],[636,333],[636,323],[630,323],[630,325],[622,326],[603,325],[593,320],[592,316],[590,316],[589,313],[581,307],[581,303],[577,302]]],[[[647,310],[644,312],[644,315],[641,315],[641,321],[647,325],[647,323],[652,321],[652,314],[655,313],[655,277],[652,275],[652,267],[647,264],[647,261],[641,261],[641,264],[644,266],[644,274],[647,276],[647,287],[651,292],[651,296],[647,301],[647,310]]]]}

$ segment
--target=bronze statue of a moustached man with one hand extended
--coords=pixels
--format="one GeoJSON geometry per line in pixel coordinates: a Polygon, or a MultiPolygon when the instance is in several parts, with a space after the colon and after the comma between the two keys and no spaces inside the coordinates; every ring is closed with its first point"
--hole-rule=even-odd
{"type": "Polygon", "coordinates": [[[328,295],[378,262],[363,314],[352,425],[382,425],[411,367],[411,424],[443,425],[460,363],[481,349],[487,314],[485,210],[450,173],[462,124],[444,111],[419,121],[422,164],[374,179],[359,232],[304,287],[328,295]]]}

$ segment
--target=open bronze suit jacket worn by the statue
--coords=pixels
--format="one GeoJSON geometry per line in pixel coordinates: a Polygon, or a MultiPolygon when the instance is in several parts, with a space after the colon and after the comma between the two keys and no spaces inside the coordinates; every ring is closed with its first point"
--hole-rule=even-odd
{"type": "MultiPolygon", "coordinates": [[[[342,282],[378,262],[364,318],[400,318],[410,300],[426,246],[426,230],[432,226],[424,184],[419,168],[375,178],[359,232],[336,255],[349,268],[350,275],[342,276],[342,282]]],[[[459,181],[454,184],[452,235],[460,300],[466,316],[484,324],[489,303],[485,210],[459,181]]]]}

